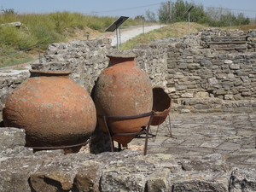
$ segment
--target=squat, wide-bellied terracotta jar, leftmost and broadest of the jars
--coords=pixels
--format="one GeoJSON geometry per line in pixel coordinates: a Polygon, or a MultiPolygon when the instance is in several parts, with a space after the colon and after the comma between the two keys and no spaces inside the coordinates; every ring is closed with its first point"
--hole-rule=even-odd
{"type": "Polygon", "coordinates": [[[96,127],[90,95],[69,79],[69,72],[31,71],[8,97],[3,124],[26,131],[26,146],[50,147],[84,143],[96,127]]]}

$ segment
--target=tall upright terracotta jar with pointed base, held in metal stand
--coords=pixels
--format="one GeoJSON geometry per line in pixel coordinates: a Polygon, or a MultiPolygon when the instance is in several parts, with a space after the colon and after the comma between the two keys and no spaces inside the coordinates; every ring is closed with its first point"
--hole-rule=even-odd
{"type": "MultiPolygon", "coordinates": [[[[148,75],[136,67],[134,55],[108,55],[109,66],[99,76],[94,89],[94,102],[98,122],[107,132],[102,119],[105,116],[131,116],[152,111],[152,86],[148,75]]],[[[109,119],[113,133],[142,131],[149,117],[138,119],[109,119]]],[[[114,136],[113,140],[124,147],[135,136],[114,136]]]]}

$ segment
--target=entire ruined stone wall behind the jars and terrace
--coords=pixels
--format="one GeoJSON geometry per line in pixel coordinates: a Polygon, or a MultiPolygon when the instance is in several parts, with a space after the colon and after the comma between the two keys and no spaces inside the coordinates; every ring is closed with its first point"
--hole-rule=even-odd
{"type": "MultiPolygon", "coordinates": [[[[137,66],[148,73],[152,85],[165,88],[172,96],[172,112],[254,112],[255,39],[253,30],[211,28],[183,38],[139,44],[130,51],[137,53],[137,66]]],[[[106,55],[113,51],[107,38],[51,44],[32,69],[69,70],[71,79],[90,93],[98,75],[108,67],[106,55]]],[[[25,72],[1,75],[0,113],[10,92],[28,77],[25,72]]]]}

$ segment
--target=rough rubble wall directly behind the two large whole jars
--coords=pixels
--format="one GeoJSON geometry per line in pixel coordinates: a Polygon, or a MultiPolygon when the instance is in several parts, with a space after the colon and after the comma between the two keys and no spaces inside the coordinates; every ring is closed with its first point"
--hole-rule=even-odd
{"type": "MultiPolygon", "coordinates": [[[[131,52],[125,51],[125,52],[131,52]]],[[[68,44],[51,44],[44,60],[32,64],[36,70],[69,70],[71,79],[89,93],[102,70],[108,67],[107,55],[118,52],[110,46],[109,39],[81,41],[68,44]]],[[[166,53],[162,49],[138,49],[137,67],[148,73],[152,85],[166,86],[166,53]]],[[[125,53],[124,53],[125,54],[125,53]]]]}

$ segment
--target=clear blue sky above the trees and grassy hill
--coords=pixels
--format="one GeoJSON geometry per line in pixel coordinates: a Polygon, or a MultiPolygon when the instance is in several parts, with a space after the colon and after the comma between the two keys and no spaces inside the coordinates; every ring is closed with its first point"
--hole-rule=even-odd
{"type": "MultiPolygon", "coordinates": [[[[186,0],[183,0],[184,2],[186,0]]],[[[144,15],[146,10],[156,13],[163,0],[0,0],[3,9],[15,9],[23,13],[49,13],[55,11],[79,12],[99,16],[144,15]]],[[[176,2],[176,0],[172,0],[176,2]]],[[[229,8],[236,13],[244,13],[250,18],[256,17],[256,0],[187,0],[188,3],[202,3],[204,7],[229,8]]]]}

